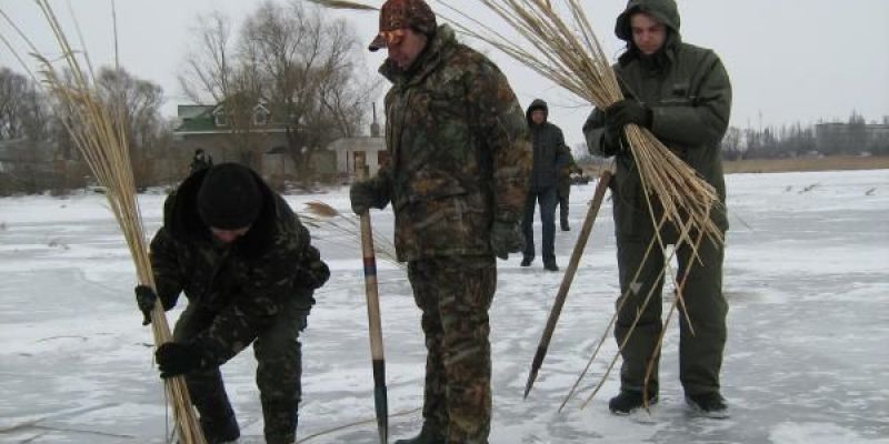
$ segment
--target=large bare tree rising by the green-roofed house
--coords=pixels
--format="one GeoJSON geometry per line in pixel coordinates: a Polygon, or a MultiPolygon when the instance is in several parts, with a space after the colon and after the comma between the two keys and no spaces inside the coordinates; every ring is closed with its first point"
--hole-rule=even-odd
{"type": "Polygon", "coordinates": [[[186,95],[222,104],[241,148],[254,147],[247,139],[256,131],[253,108],[264,104],[302,178],[310,176],[313,153],[358,132],[379,87],[361,79],[357,39],[347,23],[303,1],[261,3],[246,18],[237,44],[219,14],[203,19],[197,32],[180,74],[186,95]]]}

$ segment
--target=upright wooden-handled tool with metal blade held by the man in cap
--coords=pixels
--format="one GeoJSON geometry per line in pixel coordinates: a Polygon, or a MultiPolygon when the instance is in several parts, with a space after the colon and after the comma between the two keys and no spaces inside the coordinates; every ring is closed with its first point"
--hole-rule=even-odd
{"type": "MultiPolygon", "coordinates": [[[[363,162],[362,162],[363,163],[363,162]]],[[[363,165],[359,175],[363,178],[363,165]]],[[[364,294],[368,300],[368,330],[370,331],[370,357],[373,363],[373,405],[377,413],[377,430],[380,444],[389,441],[389,403],[386,393],[386,357],[382,350],[382,322],[380,321],[380,296],[377,291],[377,258],[373,252],[373,230],[370,213],[359,215],[361,221],[361,255],[364,262],[364,294]]]]}

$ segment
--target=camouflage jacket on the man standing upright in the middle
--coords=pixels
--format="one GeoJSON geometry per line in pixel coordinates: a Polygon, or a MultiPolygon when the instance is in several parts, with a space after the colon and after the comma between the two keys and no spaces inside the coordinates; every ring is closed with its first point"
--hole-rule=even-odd
{"type": "Polygon", "coordinates": [[[531,168],[506,77],[447,24],[407,72],[380,73],[390,162],[371,183],[392,203],[398,259],[492,254],[491,224],[519,223],[531,168]]]}

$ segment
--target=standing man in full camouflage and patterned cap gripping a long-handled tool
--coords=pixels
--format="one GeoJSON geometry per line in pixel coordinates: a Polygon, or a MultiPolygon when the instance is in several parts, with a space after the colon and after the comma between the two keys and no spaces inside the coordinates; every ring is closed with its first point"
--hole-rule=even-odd
{"type": "Polygon", "coordinates": [[[389,203],[428,349],[423,426],[397,444],[483,444],[491,424],[490,309],[495,256],[522,248],[530,170],[521,108],[506,77],[436,24],[422,0],[389,0],[371,51],[380,68],[390,161],[356,182],[352,210],[389,203]]]}

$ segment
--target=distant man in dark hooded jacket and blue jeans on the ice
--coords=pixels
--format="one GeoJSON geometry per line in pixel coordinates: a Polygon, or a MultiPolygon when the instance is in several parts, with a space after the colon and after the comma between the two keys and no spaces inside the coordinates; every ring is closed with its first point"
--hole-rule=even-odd
{"type": "Polygon", "coordinates": [[[543,250],[543,268],[559,271],[556,264],[556,204],[559,173],[568,164],[570,150],[565,144],[562,130],[547,121],[549,110],[547,102],[535,99],[526,111],[526,120],[533,142],[533,170],[525,202],[525,216],[521,221],[525,234],[525,251],[521,266],[528,266],[535,260],[535,208],[540,204],[540,222],[542,223],[541,250],[543,250]]]}

